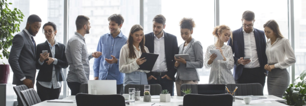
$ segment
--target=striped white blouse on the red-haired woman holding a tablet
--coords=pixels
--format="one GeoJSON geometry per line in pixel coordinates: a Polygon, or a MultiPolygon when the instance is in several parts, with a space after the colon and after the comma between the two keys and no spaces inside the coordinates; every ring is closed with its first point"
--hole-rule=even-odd
{"type": "Polygon", "coordinates": [[[210,45],[205,54],[205,68],[211,68],[211,73],[209,77],[210,84],[235,84],[235,80],[231,69],[234,68],[234,57],[231,46],[223,45],[221,47],[223,55],[226,58],[224,60],[214,60],[213,63],[208,64],[210,56],[212,55],[209,51],[216,49],[215,45],[210,45]]]}

